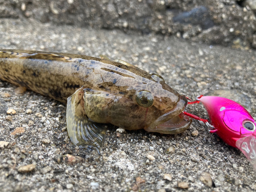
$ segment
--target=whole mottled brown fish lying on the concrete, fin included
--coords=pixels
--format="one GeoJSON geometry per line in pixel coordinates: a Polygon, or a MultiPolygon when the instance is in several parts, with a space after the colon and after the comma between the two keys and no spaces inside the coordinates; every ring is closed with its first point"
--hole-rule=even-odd
{"type": "Polygon", "coordinates": [[[108,124],[177,134],[191,118],[187,99],[163,77],[130,63],[69,53],[0,50],[0,79],[67,103],[72,143],[99,152],[108,124]]]}

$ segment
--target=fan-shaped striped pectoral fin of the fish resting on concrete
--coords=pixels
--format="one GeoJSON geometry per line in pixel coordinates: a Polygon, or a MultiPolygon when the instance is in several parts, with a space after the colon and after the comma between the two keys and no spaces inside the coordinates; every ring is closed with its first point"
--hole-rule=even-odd
{"type": "Polygon", "coordinates": [[[106,125],[88,118],[84,111],[83,88],[78,89],[68,98],[67,130],[73,144],[88,150],[99,148],[103,143],[106,125]]]}

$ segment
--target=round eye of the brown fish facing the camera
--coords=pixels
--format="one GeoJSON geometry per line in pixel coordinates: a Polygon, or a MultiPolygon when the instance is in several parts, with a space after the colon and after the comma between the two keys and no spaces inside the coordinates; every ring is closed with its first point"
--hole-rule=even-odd
{"type": "Polygon", "coordinates": [[[136,102],[138,105],[143,106],[143,108],[149,108],[153,104],[153,96],[147,90],[141,90],[136,93],[136,102]]]}

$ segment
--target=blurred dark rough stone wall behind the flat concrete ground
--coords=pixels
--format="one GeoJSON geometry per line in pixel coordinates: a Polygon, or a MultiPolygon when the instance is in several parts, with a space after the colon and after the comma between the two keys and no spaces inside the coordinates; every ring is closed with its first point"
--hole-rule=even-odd
{"type": "Polygon", "coordinates": [[[155,32],[248,49],[256,48],[255,7],[252,0],[2,0],[0,17],[155,32]]]}

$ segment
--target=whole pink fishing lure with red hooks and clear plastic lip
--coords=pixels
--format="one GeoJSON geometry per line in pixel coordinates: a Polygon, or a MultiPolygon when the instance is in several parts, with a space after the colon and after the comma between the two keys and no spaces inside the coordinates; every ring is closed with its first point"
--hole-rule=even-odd
{"type": "MultiPolygon", "coordinates": [[[[218,134],[225,143],[239,148],[256,171],[256,121],[249,112],[239,103],[223,97],[200,96],[197,100],[207,110],[212,125],[210,133],[218,134]]],[[[184,114],[208,123],[195,115],[184,114]]]]}

